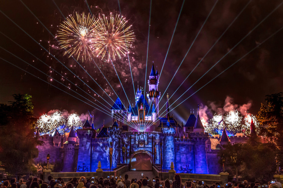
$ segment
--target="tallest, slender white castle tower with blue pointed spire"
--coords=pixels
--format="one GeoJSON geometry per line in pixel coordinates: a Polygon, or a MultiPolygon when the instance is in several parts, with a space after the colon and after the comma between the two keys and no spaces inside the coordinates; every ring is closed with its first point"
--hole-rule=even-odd
{"type": "Polygon", "coordinates": [[[154,69],[154,63],[152,63],[152,68],[151,68],[151,72],[150,72],[150,76],[149,76],[149,80],[148,80],[148,86],[149,86],[149,91],[147,92],[147,98],[148,98],[148,104],[150,106],[150,108],[153,106],[155,106],[156,108],[156,112],[157,112],[157,117],[158,117],[158,101],[159,101],[159,97],[160,97],[160,92],[158,91],[158,78],[159,78],[159,74],[157,72],[155,72],[154,69]]]}

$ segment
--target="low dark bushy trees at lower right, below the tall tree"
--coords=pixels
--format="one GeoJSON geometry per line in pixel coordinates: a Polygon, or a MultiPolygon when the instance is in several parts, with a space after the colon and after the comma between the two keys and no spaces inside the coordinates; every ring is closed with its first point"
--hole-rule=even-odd
{"type": "Polygon", "coordinates": [[[229,143],[221,148],[218,156],[221,158],[223,154],[226,171],[249,181],[267,182],[276,171],[276,151],[272,143],[229,143]]]}

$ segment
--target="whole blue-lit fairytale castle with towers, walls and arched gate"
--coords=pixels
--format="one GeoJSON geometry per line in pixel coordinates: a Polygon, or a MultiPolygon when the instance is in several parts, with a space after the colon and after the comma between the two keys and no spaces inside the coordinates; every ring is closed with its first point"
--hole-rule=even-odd
{"type": "MultiPolygon", "coordinates": [[[[35,163],[44,162],[49,153],[50,163],[60,164],[62,172],[95,172],[101,161],[103,169],[127,163],[130,170],[152,170],[153,164],[166,170],[173,162],[177,173],[220,173],[217,156],[220,146],[228,142],[244,143],[249,137],[229,138],[224,129],[221,138],[211,138],[204,132],[198,112],[197,116],[191,113],[185,125],[179,125],[169,113],[168,96],[167,115],[159,117],[158,80],[159,74],[152,65],[147,99],[138,88],[136,105],[125,109],[118,96],[111,108],[113,123],[102,125],[99,132],[88,119],[76,133],[72,127],[68,136],[57,130],[52,135],[39,136],[37,131],[43,145],[37,146],[39,155],[35,163]]],[[[256,134],[253,123],[252,134],[256,134]]]]}

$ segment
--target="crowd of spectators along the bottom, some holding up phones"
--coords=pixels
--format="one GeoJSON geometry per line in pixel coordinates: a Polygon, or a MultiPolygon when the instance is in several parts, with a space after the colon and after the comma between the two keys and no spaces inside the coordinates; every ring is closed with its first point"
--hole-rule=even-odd
{"type": "Polygon", "coordinates": [[[108,176],[107,178],[85,178],[82,176],[79,179],[74,177],[65,182],[60,177],[55,180],[52,176],[48,176],[48,181],[43,182],[37,177],[29,176],[27,182],[24,182],[23,179],[17,181],[16,178],[12,178],[10,181],[0,182],[0,186],[1,188],[282,188],[282,184],[276,180],[268,182],[268,185],[260,185],[259,182],[248,183],[245,180],[242,183],[232,181],[225,185],[215,182],[208,186],[201,180],[188,180],[183,184],[178,174],[175,175],[173,181],[166,179],[165,182],[161,182],[159,177],[152,179],[143,177],[132,180],[128,180],[128,178],[127,174],[124,178],[122,176],[108,176]]]}

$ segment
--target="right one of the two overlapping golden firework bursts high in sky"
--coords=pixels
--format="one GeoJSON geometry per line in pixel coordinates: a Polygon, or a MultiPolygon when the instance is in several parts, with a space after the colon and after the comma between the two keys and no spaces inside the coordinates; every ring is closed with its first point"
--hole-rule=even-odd
{"type": "Polygon", "coordinates": [[[103,59],[108,53],[109,62],[110,58],[115,60],[118,56],[121,59],[121,55],[126,56],[129,53],[128,48],[132,48],[134,42],[134,32],[131,30],[132,25],[126,25],[127,22],[125,17],[111,12],[108,17],[102,14],[97,18],[98,32],[94,35],[96,39],[91,44],[97,57],[101,56],[103,59]]]}

